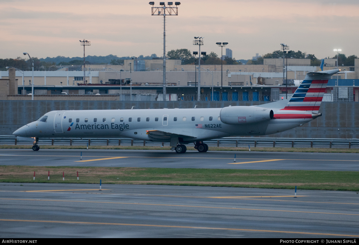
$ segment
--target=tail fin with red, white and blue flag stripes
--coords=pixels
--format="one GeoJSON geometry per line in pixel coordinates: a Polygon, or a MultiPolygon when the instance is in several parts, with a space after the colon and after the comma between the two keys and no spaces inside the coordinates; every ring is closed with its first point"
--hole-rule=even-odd
{"type": "Polygon", "coordinates": [[[323,95],[331,76],[341,73],[340,70],[310,71],[295,90],[293,97],[282,110],[302,110],[318,113],[323,95]]]}

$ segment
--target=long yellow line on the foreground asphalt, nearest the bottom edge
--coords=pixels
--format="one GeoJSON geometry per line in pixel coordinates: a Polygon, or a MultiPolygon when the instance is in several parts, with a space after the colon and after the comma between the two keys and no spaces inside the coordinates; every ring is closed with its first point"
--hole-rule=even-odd
{"type": "Polygon", "coordinates": [[[307,234],[307,235],[322,235],[322,236],[324,235],[324,236],[350,236],[350,237],[359,237],[359,235],[346,235],[346,234],[331,234],[331,233],[317,233],[317,232],[299,232],[299,231],[255,230],[255,229],[220,228],[220,227],[204,227],[204,226],[145,225],[145,224],[128,224],[128,223],[55,221],[55,220],[8,220],[8,219],[0,219],[0,221],[43,222],[43,223],[85,224],[85,225],[126,225],[126,226],[148,226],[148,227],[190,228],[190,229],[231,230],[231,231],[257,231],[257,232],[277,232],[277,233],[307,234]]]}

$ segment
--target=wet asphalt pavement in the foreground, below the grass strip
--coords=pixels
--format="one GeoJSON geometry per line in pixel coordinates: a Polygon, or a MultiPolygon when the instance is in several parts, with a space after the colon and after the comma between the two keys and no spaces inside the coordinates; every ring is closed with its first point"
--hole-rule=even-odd
{"type": "MultiPolygon", "coordinates": [[[[359,238],[355,192],[6,183],[1,238],[359,238]]],[[[324,240],[326,241],[326,240],[324,240]]],[[[324,242],[326,243],[326,242],[324,242]]]]}

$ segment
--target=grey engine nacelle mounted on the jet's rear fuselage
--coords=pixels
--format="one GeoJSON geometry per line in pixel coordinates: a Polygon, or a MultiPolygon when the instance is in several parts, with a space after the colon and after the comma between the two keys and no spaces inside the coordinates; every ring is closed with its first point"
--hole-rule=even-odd
{"type": "Polygon", "coordinates": [[[273,119],[273,110],[255,106],[230,106],[222,108],[220,119],[226,124],[245,124],[273,119]]]}

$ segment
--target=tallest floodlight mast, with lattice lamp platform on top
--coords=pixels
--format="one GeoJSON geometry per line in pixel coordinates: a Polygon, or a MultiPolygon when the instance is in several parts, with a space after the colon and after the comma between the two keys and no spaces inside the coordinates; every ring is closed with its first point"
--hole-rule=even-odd
{"type": "Polygon", "coordinates": [[[172,7],[173,2],[168,2],[167,7],[164,2],[160,2],[160,7],[154,7],[155,2],[149,2],[152,9],[152,15],[163,15],[163,100],[166,100],[166,15],[178,15],[177,6],[180,2],[175,2],[176,7],[172,7]]]}

